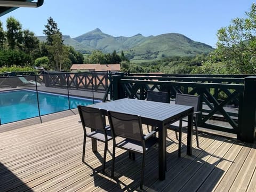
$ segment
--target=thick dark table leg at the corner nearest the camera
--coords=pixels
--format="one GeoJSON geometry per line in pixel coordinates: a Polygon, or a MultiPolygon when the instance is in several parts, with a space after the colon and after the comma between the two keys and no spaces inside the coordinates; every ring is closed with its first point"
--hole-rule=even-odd
{"type": "Polygon", "coordinates": [[[166,127],[158,127],[158,177],[159,180],[165,180],[166,170],[166,127]]]}

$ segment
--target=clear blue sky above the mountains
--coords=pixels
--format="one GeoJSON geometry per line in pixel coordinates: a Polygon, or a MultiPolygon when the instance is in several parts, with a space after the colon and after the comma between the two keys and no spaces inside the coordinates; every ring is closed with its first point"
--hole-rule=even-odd
{"type": "Polygon", "coordinates": [[[20,7],[13,16],[23,29],[43,35],[47,19],[57,22],[63,35],[77,37],[95,28],[113,36],[131,37],[180,33],[215,47],[217,31],[231,19],[245,17],[250,0],[44,0],[38,8],[20,7]]]}

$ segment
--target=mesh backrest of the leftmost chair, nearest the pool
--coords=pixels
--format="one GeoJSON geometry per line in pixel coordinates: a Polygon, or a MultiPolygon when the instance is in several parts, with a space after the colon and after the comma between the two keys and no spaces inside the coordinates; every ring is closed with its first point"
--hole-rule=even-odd
{"type": "Polygon", "coordinates": [[[94,130],[105,130],[106,123],[100,109],[80,105],[77,106],[77,109],[84,129],[89,127],[94,130]]]}

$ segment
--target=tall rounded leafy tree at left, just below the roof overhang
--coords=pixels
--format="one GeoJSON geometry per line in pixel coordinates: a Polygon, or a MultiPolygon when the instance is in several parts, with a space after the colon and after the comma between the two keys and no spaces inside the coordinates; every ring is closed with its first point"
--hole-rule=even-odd
{"type": "Polygon", "coordinates": [[[6,38],[8,46],[11,50],[22,48],[22,28],[21,24],[14,17],[9,17],[6,20],[6,38]]]}

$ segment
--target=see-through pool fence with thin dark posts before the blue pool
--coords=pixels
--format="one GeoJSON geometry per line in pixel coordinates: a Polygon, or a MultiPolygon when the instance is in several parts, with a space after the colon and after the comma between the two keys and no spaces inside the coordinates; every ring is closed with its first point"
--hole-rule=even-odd
{"type": "Polygon", "coordinates": [[[102,102],[108,90],[108,72],[0,77],[1,123],[74,109],[77,105],[102,102]]]}

